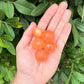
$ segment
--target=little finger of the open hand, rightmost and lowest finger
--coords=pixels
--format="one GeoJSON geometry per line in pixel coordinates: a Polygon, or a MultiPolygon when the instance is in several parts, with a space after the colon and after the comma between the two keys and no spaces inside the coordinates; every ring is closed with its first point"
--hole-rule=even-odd
{"type": "Polygon", "coordinates": [[[63,48],[64,48],[64,45],[68,39],[68,36],[71,32],[71,24],[70,23],[67,23],[61,33],[61,35],[59,36],[59,39],[57,40],[57,48],[60,52],[62,52],[63,48]]]}

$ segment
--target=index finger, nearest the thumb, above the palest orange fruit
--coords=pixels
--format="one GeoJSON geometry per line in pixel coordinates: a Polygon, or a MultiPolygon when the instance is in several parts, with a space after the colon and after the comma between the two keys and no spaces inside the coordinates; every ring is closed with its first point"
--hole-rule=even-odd
{"type": "Polygon", "coordinates": [[[38,23],[38,27],[41,28],[42,30],[45,30],[46,27],[49,24],[49,21],[51,20],[51,18],[55,15],[56,11],[58,9],[57,4],[53,4],[51,5],[48,10],[45,12],[45,14],[43,15],[43,17],[40,19],[39,23],[38,23]]]}

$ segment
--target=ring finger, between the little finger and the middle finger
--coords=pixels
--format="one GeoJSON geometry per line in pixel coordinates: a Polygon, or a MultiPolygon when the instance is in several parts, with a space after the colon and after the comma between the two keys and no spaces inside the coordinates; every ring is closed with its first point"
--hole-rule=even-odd
{"type": "Polygon", "coordinates": [[[65,10],[56,30],[55,30],[55,41],[58,39],[59,35],[61,34],[64,25],[69,21],[71,16],[71,11],[69,9],[65,10]]]}

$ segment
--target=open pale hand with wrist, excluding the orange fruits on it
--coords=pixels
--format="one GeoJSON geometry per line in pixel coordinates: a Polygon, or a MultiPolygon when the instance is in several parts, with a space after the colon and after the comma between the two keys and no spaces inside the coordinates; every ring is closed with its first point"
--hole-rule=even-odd
{"type": "Polygon", "coordinates": [[[32,22],[24,32],[16,47],[17,73],[12,84],[45,84],[54,75],[71,31],[71,24],[68,23],[71,11],[67,6],[66,2],[61,2],[59,6],[52,4],[38,23],[42,31],[47,28],[55,33],[56,49],[46,61],[38,62],[36,51],[31,46],[36,23],[32,22]]]}

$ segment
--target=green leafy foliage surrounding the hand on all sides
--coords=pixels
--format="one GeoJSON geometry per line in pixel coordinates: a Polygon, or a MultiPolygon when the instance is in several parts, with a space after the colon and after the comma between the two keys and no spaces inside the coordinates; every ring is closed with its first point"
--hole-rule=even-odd
{"type": "Polygon", "coordinates": [[[38,24],[53,3],[68,3],[72,31],[59,67],[47,84],[84,84],[84,0],[0,0],[0,84],[16,73],[15,47],[32,21],[38,24]]]}

